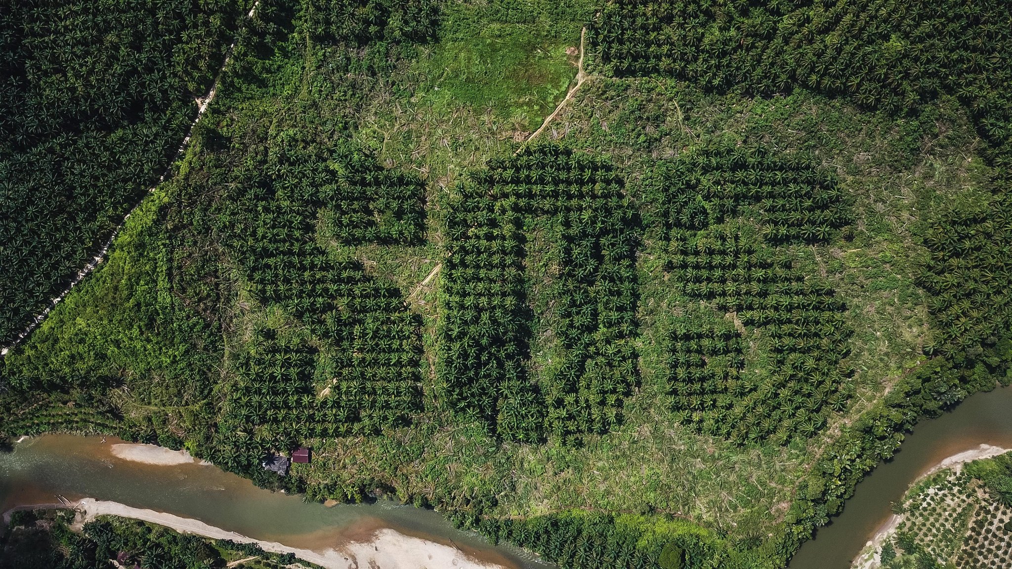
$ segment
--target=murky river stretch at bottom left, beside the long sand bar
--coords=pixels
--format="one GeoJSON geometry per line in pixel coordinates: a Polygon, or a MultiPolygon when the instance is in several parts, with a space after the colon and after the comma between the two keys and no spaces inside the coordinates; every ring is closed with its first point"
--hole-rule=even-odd
{"type": "MultiPolygon", "coordinates": [[[[117,458],[120,440],[50,434],[0,453],[0,511],[21,504],[92,497],[199,519],[256,540],[322,552],[367,541],[382,529],[457,548],[468,557],[507,569],[549,567],[530,554],[493,547],[454,529],[438,512],[390,500],[326,507],[301,496],[270,492],[215,466],[192,462],[149,465],[117,458]]],[[[422,552],[419,552],[422,553],[422,552]]]]}

